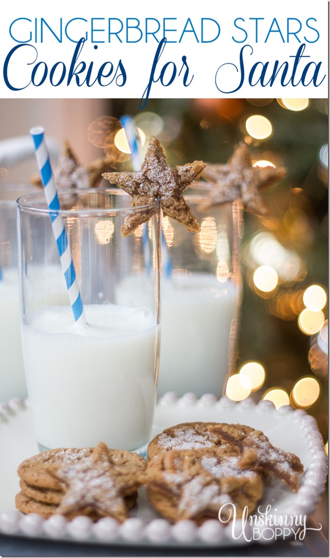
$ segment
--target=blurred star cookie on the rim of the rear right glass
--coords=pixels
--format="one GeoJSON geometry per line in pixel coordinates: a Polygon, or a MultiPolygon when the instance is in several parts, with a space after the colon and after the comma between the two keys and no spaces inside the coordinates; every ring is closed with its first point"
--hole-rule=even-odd
{"type": "Polygon", "coordinates": [[[240,143],[225,165],[207,165],[203,171],[202,177],[212,186],[210,203],[203,208],[241,198],[246,210],[267,215],[268,209],[261,193],[286,174],[284,167],[253,167],[249,148],[246,143],[240,143]]]}

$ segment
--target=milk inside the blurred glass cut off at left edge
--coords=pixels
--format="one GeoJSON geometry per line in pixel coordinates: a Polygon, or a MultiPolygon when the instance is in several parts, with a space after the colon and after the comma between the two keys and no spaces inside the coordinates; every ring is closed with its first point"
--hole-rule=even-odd
{"type": "Polygon", "coordinates": [[[0,280],[0,401],[26,395],[18,273],[17,268],[4,268],[0,280]]]}

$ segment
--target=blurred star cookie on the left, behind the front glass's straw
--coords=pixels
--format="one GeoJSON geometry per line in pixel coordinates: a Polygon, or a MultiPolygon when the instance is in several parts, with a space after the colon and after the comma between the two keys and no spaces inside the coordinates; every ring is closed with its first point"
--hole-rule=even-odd
{"type": "MultiPolygon", "coordinates": [[[[62,152],[54,171],[57,188],[96,188],[102,180],[102,173],[111,167],[111,159],[102,157],[91,162],[86,167],[81,166],[69,142],[65,141],[62,152]]],[[[42,187],[40,176],[33,177],[32,184],[42,187]]]]}

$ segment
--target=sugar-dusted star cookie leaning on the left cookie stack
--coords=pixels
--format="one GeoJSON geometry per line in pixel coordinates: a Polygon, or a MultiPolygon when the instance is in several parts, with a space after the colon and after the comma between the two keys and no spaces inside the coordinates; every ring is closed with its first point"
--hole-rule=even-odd
{"type": "Polygon", "coordinates": [[[91,516],[110,516],[124,521],[127,518],[124,497],[137,490],[139,475],[144,470],[140,463],[143,458],[137,455],[135,463],[135,454],[130,455],[133,463],[125,455],[118,456],[118,451],[109,450],[106,444],[100,442],[84,460],[49,465],[48,473],[67,487],[55,513],[70,518],[88,509],[91,516]],[[111,451],[114,454],[112,457],[111,451]]]}

